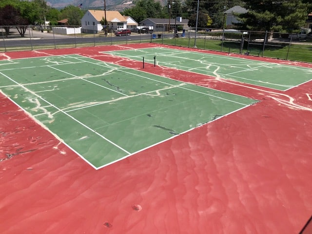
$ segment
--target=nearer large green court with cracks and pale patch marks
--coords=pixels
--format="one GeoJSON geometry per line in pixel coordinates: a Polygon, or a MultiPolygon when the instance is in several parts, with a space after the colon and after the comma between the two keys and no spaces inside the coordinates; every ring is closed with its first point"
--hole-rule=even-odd
{"type": "Polygon", "coordinates": [[[256,102],[79,55],[1,60],[0,90],[97,169],[256,102]]]}

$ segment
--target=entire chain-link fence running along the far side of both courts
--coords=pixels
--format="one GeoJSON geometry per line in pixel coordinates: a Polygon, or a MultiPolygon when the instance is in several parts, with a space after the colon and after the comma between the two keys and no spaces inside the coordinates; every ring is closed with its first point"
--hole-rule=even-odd
{"type": "MultiPolygon", "coordinates": [[[[185,28],[179,32],[156,31],[115,35],[115,30],[82,33],[78,26],[25,26],[24,37],[16,27],[0,29],[0,52],[154,42],[206,50],[312,62],[312,34],[185,28]]],[[[103,27],[104,29],[104,27],[103,27]]],[[[157,28],[156,28],[157,29],[157,28]]]]}

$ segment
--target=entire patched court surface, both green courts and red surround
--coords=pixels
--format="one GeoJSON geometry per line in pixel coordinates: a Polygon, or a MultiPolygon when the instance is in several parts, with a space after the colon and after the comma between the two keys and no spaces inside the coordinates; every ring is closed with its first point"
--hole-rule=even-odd
{"type": "Polygon", "coordinates": [[[311,64],[150,43],[0,59],[0,233],[311,230],[311,64]]]}

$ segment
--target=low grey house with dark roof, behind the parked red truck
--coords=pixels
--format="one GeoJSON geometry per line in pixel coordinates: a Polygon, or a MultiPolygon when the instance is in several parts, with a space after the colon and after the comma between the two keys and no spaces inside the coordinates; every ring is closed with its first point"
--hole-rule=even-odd
{"type": "Polygon", "coordinates": [[[147,18],[140,22],[140,26],[153,26],[154,32],[165,32],[175,28],[175,26],[182,26],[183,29],[189,29],[189,20],[177,17],[176,19],[158,19],[147,18]]]}

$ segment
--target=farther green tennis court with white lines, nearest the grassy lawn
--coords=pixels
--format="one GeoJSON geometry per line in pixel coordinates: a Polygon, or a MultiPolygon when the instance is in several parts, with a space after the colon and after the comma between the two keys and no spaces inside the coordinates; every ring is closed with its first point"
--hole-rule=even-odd
{"type": "Polygon", "coordinates": [[[162,47],[105,52],[114,56],[150,62],[248,84],[287,90],[311,80],[312,69],[229,56],[162,47]]]}

